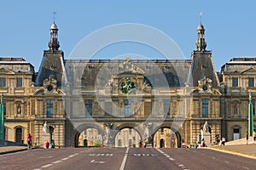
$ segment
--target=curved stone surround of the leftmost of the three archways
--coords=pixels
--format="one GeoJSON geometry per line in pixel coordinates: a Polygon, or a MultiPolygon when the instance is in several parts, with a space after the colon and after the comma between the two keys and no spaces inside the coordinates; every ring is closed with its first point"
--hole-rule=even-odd
{"type": "Polygon", "coordinates": [[[79,135],[80,135],[80,133],[82,133],[87,128],[95,128],[95,129],[98,130],[98,133],[100,133],[102,135],[105,133],[103,128],[99,124],[96,124],[96,123],[81,124],[81,125],[79,125],[79,127],[76,128],[76,133],[75,133],[75,136],[74,136],[74,146],[75,147],[79,147],[79,135]]]}

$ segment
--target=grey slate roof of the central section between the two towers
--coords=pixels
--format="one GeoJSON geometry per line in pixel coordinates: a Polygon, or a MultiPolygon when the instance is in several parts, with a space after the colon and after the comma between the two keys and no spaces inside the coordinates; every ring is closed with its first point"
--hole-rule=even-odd
{"type": "MultiPolygon", "coordinates": [[[[78,72],[81,75],[82,82],[85,86],[95,86],[95,81],[102,67],[108,65],[108,73],[115,74],[115,70],[123,65],[125,59],[66,59],[64,60],[68,82],[77,82],[78,72]]],[[[160,77],[163,74],[166,77],[170,87],[184,87],[189,77],[191,59],[130,59],[131,65],[136,65],[137,73],[142,74],[145,78],[160,77]],[[154,65],[160,71],[155,71],[154,65]]],[[[136,72],[136,71],[135,71],[136,72]]],[[[130,73],[135,73],[131,71],[130,73]]],[[[106,82],[111,77],[105,77],[106,82]]],[[[157,87],[160,88],[159,81],[157,87]]]]}

